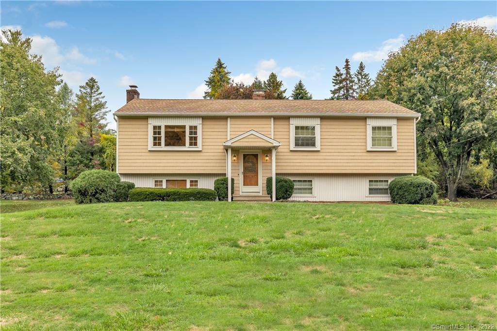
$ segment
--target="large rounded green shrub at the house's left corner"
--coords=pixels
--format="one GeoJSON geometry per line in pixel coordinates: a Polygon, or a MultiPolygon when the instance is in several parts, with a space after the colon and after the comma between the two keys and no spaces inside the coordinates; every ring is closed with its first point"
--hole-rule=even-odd
{"type": "Polygon", "coordinates": [[[120,181],[115,172],[87,170],[71,182],[71,190],[77,203],[112,202],[120,181]]]}

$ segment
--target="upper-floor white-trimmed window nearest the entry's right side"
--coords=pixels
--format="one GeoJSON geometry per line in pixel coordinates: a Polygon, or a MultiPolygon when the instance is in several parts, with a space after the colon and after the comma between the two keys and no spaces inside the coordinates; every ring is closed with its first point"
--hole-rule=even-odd
{"type": "Polygon", "coordinates": [[[319,151],[320,126],[319,117],[290,117],[290,150],[319,151]]]}

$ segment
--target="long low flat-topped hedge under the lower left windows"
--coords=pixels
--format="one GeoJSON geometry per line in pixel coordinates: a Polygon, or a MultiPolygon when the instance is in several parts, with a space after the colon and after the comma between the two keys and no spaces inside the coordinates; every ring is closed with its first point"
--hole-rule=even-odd
{"type": "Polygon", "coordinates": [[[210,188],[137,187],[129,191],[128,201],[216,201],[210,188]]]}

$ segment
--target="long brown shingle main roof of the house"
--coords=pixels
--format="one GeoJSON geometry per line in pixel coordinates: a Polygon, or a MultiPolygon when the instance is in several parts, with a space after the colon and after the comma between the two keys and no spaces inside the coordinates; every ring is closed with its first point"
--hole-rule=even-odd
{"type": "Polygon", "coordinates": [[[350,114],[403,115],[419,114],[388,100],[198,100],[198,99],[133,99],[116,112],[124,114],[350,114]]]}

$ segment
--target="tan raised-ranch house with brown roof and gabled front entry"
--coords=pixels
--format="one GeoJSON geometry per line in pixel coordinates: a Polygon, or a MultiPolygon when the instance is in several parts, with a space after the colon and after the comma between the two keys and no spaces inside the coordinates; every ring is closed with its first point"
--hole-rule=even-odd
{"type": "MultiPolygon", "coordinates": [[[[274,200],[266,178],[295,183],[292,200],[389,201],[389,182],[416,172],[420,114],[387,100],[141,99],[117,121],[117,172],[137,187],[213,188],[274,200]],[[231,188],[230,188],[231,189],[231,188]]],[[[273,181],[274,183],[274,181],[273,181]]],[[[275,192],[275,190],[272,190],[275,192]]]]}

